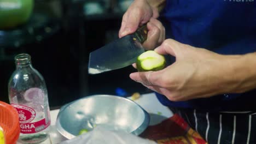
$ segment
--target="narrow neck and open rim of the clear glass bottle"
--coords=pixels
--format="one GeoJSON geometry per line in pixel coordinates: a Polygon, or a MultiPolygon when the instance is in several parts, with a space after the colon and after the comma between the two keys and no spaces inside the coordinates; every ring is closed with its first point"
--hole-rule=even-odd
{"type": "Polygon", "coordinates": [[[17,56],[15,56],[15,63],[16,63],[16,68],[31,68],[31,56],[28,55],[27,53],[21,53],[17,56]]]}

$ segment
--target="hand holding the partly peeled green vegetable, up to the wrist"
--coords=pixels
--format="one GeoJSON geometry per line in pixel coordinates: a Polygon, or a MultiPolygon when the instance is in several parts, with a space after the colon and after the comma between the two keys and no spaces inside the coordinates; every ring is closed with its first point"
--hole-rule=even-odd
{"type": "Polygon", "coordinates": [[[229,60],[235,56],[219,55],[172,39],[165,40],[155,51],[176,57],[176,62],[159,71],[132,73],[130,77],[169,100],[207,98],[234,89],[229,60]]]}

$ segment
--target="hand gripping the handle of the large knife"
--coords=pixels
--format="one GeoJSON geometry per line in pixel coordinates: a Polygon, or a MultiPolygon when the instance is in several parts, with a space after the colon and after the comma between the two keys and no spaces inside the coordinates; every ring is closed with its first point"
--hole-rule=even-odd
{"type": "Polygon", "coordinates": [[[146,50],[153,50],[165,40],[165,28],[156,18],[158,9],[146,0],[134,1],[123,16],[119,38],[136,31],[139,26],[147,23],[148,38],[143,43],[146,50]]]}

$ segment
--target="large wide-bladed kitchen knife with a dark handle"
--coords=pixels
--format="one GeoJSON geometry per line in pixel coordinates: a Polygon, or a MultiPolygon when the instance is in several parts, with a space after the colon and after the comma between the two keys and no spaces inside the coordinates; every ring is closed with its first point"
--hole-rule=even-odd
{"type": "Polygon", "coordinates": [[[147,33],[147,26],[144,25],[135,33],[92,51],[89,57],[88,73],[99,74],[135,63],[136,58],[145,51],[142,44],[147,39],[147,33]]]}

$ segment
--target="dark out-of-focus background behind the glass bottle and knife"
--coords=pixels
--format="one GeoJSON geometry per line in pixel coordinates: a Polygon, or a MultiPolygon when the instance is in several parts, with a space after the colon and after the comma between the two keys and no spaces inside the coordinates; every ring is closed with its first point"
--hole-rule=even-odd
{"type": "Polygon", "coordinates": [[[88,74],[89,53],[118,39],[132,0],[0,0],[0,100],[9,103],[14,56],[28,53],[44,77],[50,109],[92,94],[149,93],[131,66],[88,74]]]}

